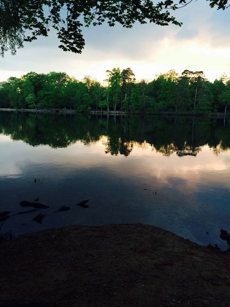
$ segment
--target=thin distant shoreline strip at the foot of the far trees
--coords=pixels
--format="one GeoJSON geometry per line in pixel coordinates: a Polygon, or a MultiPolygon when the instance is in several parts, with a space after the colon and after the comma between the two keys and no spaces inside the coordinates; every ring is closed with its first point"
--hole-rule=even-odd
{"type": "Polygon", "coordinates": [[[70,109],[10,109],[10,108],[0,108],[0,111],[6,112],[31,112],[31,113],[52,113],[52,114],[99,114],[99,115],[160,115],[160,116],[208,116],[208,117],[217,117],[224,118],[229,117],[230,113],[191,113],[191,112],[158,112],[158,113],[131,113],[131,112],[122,112],[122,111],[77,111],[70,109]]]}

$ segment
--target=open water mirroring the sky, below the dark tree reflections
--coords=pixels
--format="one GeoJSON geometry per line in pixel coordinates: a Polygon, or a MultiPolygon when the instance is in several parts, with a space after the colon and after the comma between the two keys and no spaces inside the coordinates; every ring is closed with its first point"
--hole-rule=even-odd
{"type": "Polygon", "coordinates": [[[196,157],[165,157],[148,145],[134,145],[125,157],[105,154],[102,142],[52,149],[0,135],[0,211],[26,210],[19,202],[37,196],[50,206],[42,225],[32,221],[35,212],[10,218],[4,229],[19,234],[75,223],[141,222],[220,244],[219,229],[230,228],[230,151],[216,156],[205,145],[196,157]],[[52,213],[85,198],[87,210],[52,213]]]}

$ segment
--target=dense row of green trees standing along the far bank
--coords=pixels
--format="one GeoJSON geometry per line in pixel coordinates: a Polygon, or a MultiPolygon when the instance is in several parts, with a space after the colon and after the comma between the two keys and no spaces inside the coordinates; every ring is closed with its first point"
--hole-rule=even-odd
{"type": "Polygon", "coordinates": [[[89,76],[78,81],[65,72],[29,72],[0,83],[1,108],[74,109],[131,113],[227,113],[230,78],[213,83],[202,71],[169,70],[153,81],[136,82],[131,68],[107,70],[106,85],[89,76]]]}

